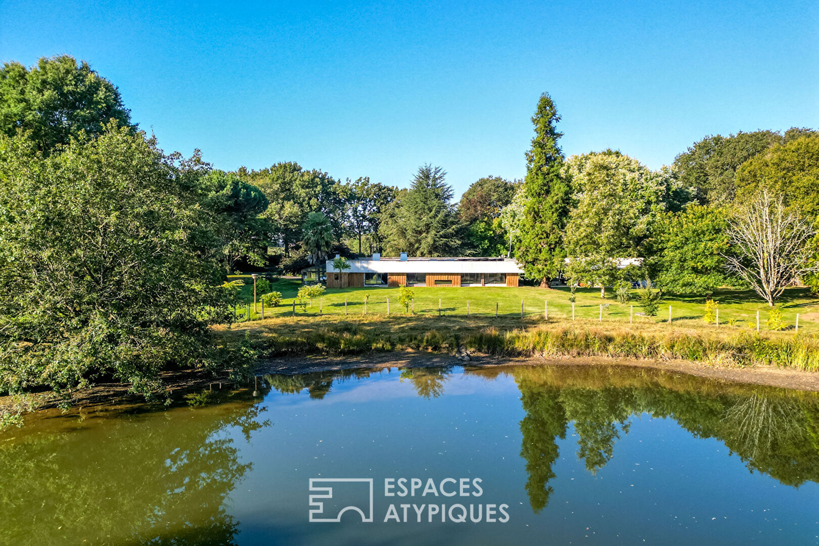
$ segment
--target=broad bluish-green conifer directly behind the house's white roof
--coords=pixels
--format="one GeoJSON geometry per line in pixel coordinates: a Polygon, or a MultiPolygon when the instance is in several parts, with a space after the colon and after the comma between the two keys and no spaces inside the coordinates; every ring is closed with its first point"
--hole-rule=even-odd
{"type": "Polygon", "coordinates": [[[408,190],[382,215],[385,250],[415,256],[452,255],[460,245],[460,224],[452,187],[441,167],[423,165],[408,190]]]}

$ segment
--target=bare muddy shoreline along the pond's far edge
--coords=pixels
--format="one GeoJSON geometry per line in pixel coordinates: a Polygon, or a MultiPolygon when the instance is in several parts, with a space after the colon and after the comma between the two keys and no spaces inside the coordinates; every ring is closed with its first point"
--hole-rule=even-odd
{"type": "MultiPolygon", "coordinates": [[[[464,361],[452,355],[414,352],[391,352],[343,357],[302,355],[261,360],[256,367],[256,374],[333,372],[356,368],[429,368],[451,365],[466,365],[480,368],[546,365],[618,365],[681,372],[693,376],[710,377],[735,383],[819,391],[819,373],[802,372],[791,368],[722,368],[686,360],[618,359],[607,357],[496,358],[473,355],[468,361],[464,361]]],[[[174,392],[202,388],[246,388],[252,386],[252,380],[233,383],[233,381],[229,381],[227,377],[214,377],[210,372],[204,372],[202,370],[164,372],[161,377],[168,386],[168,391],[171,396],[174,396],[174,392]]],[[[128,385],[125,383],[101,383],[87,389],[76,390],[72,395],[75,399],[73,405],[80,408],[99,404],[145,404],[143,397],[129,393],[128,385]]],[[[35,395],[35,399],[37,400],[38,410],[57,407],[57,400],[52,399],[50,395],[35,395]]],[[[0,397],[0,408],[8,408],[11,407],[11,405],[13,405],[11,397],[0,397]]]]}

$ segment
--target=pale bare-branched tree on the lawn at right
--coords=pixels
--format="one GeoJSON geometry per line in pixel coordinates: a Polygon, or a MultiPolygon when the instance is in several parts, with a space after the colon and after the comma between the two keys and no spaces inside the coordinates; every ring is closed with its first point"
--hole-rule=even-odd
{"type": "Polygon", "coordinates": [[[816,269],[807,267],[808,241],[816,231],[785,210],[781,196],[763,191],[740,205],[728,223],[728,236],[738,251],[726,256],[726,267],[748,282],[768,305],[774,305],[799,273],[816,269]]]}

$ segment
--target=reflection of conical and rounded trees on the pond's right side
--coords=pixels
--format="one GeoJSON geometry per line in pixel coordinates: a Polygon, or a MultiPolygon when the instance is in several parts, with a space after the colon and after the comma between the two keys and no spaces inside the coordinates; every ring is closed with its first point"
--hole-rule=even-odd
{"type": "Polygon", "coordinates": [[[819,401],[815,393],[741,386],[657,370],[555,366],[468,370],[514,377],[526,416],[521,457],[532,509],[549,502],[559,456],[557,439],[568,424],[577,456],[597,472],[613,457],[633,415],[670,417],[700,438],[722,440],[752,471],[785,485],[819,481],[819,401]]]}

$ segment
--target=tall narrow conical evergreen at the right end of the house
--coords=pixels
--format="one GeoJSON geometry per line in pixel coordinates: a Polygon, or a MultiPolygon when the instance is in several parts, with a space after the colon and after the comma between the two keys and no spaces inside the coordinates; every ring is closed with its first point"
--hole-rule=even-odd
{"type": "Polygon", "coordinates": [[[563,228],[566,225],[569,187],[560,173],[563,151],[556,129],[560,121],[548,93],[543,93],[532,116],[535,136],[526,153],[527,173],[523,181],[523,221],[517,256],[523,262],[527,278],[540,279],[548,288],[552,278],[563,267],[563,228]]]}

